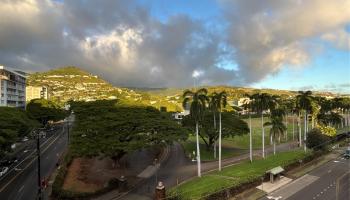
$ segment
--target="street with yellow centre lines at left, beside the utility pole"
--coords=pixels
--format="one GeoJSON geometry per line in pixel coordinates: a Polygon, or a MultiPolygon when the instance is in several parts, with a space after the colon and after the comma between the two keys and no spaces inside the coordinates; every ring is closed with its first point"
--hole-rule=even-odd
{"type": "MultiPolygon", "coordinates": [[[[66,126],[41,141],[41,177],[48,177],[55,170],[59,155],[67,147],[66,126]]],[[[10,168],[0,180],[0,199],[31,200],[37,197],[37,159],[33,146],[30,151],[21,155],[16,166],[10,168]]]]}

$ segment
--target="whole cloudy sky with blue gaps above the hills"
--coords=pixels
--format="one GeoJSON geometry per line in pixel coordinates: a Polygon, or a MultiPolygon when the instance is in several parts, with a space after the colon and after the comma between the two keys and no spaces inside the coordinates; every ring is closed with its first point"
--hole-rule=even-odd
{"type": "Polygon", "coordinates": [[[116,86],[350,93],[350,0],[0,0],[0,64],[116,86]]]}

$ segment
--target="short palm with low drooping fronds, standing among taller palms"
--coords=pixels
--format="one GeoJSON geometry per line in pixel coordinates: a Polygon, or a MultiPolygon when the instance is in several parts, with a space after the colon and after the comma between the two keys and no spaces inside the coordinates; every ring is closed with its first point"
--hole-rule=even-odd
{"type": "Polygon", "coordinates": [[[284,111],[282,109],[276,109],[271,113],[271,121],[264,123],[264,126],[271,126],[270,135],[273,138],[273,155],[276,154],[276,138],[281,138],[287,129],[283,123],[283,115],[284,111]]]}

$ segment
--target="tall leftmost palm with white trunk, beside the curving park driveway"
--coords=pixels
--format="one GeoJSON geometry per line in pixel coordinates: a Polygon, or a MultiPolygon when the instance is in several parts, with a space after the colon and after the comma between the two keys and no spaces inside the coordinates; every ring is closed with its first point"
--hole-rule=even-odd
{"type": "Polygon", "coordinates": [[[199,89],[196,92],[186,90],[183,93],[182,106],[186,108],[190,103],[190,116],[196,123],[196,143],[197,143],[197,173],[198,177],[201,177],[201,161],[199,150],[199,123],[203,119],[204,111],[208,102],[208,91],[205,88],[199,89]]]}

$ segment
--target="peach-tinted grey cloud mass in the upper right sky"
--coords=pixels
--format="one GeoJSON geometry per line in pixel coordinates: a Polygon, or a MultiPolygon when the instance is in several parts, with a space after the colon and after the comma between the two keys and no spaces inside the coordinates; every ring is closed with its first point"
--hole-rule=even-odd
{"type": "Polygon", "coordinates": [[[308,39],[350,22],[349,0],[227,0],[221,3],[229,21],[228,40],[247,83],[259,82],[284,66],[303,66],[315,48],[308,39]]]}

